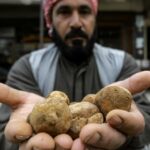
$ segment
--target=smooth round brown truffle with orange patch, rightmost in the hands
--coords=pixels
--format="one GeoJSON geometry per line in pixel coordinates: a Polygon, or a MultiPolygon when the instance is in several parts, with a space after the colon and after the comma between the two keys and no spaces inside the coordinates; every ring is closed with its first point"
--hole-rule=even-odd
{"type": "Polygon", "coordinates": [[[96,104],[100,111],[107,115],[113,109],[129,111],[132,102],[131,93],[121,86],[106,86],[96,94],[96,104]]]}

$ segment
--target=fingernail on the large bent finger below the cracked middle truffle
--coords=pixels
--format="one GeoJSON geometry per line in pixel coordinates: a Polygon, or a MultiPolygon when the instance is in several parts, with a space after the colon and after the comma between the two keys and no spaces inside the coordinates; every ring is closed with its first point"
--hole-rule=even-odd
{"type": "Polygon", "coordinates": [[[101,136],[98,133],[95,133],[93,136],[87,137],[85,139],[86,144],[95,144],[100,140],[101,136]]]}

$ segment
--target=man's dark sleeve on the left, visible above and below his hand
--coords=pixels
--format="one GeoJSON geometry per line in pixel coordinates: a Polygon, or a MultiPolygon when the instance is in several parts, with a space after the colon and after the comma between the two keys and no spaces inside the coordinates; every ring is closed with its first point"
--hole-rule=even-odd
{"type": "MultiPolygon", "coordinates": [[[[23,56],[11,68],[6,84],[19,90],[29,91],[41,95],[32,70],[28,62],[29,55],[23,56]]],[[[7,141],[4,135],[5,126],[9,120],[11,108],[4,104],[0,107],[0,149],[18,150],[17,144],[7,141]]]]}

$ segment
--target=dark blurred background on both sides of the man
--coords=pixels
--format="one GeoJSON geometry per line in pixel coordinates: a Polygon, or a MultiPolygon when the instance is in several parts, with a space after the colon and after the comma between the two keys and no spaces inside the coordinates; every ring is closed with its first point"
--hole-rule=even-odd
{"type": "MultiPolygon", "coordinates": [[[[150,1],[100,0],[97,42],[132,54],[142,70],[150,69],[150,1]]],[[[0,82],[22,55],[51,39],[41,0],[0,0],[0,82]]]]}

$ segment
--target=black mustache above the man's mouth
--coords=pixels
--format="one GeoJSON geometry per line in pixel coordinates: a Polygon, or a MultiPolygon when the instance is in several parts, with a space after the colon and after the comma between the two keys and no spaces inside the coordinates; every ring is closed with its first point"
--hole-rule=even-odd
{"type": "Polygon", "coordinates": [[[65,39],[81,37],[88,39],[88,35],[81,29],[72,29],[68,34],[66,34],[65,39]]]}

